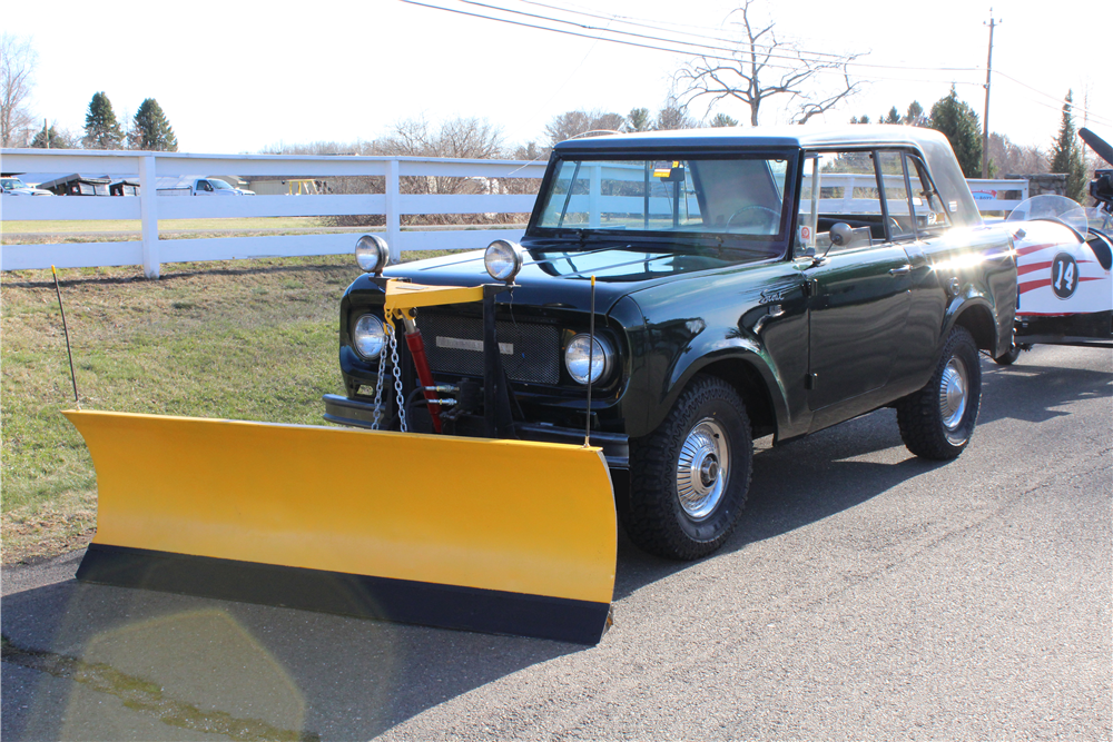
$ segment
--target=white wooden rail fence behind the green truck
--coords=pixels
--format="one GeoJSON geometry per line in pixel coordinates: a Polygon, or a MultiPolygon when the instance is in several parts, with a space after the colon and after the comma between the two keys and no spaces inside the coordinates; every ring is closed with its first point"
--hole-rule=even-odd
{"type": "MultiPolygon", "coordinates": [[[[157,278],[162,263],[236,258],[341,255],[353,249],[352,234],[275,235],[159,239],[159,219],[243,217],[322,217],[383,215],[386,240],[396,259],[402,250],[483,248],[496,238],[519,239],[516,229],[402,229],[404,215],[522,214],[533,209],[535,194],[412,195],[400,192],[402,176],[540,179],[544,162],[461,160],[418,157],[307,157],[285,155],[191,155],[179,152],[0,150],[3,172],[80,172],[138,179],[139,197],[49,198],[6,196],[3,222],[20,220],[138,219],[136,241],[3,245],[0,270],[141,265],[157,278]],[[272,176],[285,178],[385,177],[384,194],[326,196],[249,196],[177,198],[159,195],[158,177],[272,176]]],[[[540,180],[536,181],[540,186],[540,180]]],[[[971,180],[983,212],[1008,211],[1027,198],[1026,180],[971,180]],[[998,198],[1020,191],[1020,198],[998,198]]],[[[848,189],[848,192],[853,189],[848,189]]]]}

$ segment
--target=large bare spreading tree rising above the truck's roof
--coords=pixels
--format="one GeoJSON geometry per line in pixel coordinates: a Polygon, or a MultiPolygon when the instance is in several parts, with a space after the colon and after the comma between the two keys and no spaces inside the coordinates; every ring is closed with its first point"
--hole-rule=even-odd
{"type": "Polygon", "coordinates": [[[758,125],[761,103],[776,96],[787,96],[796,105],[794,123],[804,123],[835,107],[858,91],[847,66],[860,57],[854,55],[816,55],[801,51],[794,43],[781,41],[774,33],[775,23],[758,28],[750,18],[755,0],[743,0],[741,8],[727,19],[740,16],[745,34],[738,42],[732,60],[700,57],[677,72],[677,82],[686,88],[681,98],[690,103],[697,98],[737,100],[750,109],[750,126],[758,125]],[[837,77],[833,88],[821,85],[825,78],[837,77]],[[768,80],[774,79],[774,82],[768,80]]]}

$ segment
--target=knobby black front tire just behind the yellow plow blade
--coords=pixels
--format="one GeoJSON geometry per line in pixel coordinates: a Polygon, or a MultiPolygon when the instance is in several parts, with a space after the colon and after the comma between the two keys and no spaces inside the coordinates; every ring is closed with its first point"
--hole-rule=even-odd
{"type": "MultiPolygon", "coordinates": [[[[718,458],[708,455],[705,461],[715,468],[718,458]]],[[[738,525],[752,469],[754,438],[738,392],[721,378],[696,376],[661,426],[630,442],[630,503],[620,508],[622,525],[631,541],[651,554],[673,560],[707,556],[722,546],[738,525]],[[693,517],[689,511],[698,511],[700,503],[692,502],[689,492],[687,505],[681,504],[683,485],[678,485],[682,479],[678,467],[681,455],[690,456],[691,443],[701,436],[709,445],[719,445],[707,437],[709,432],[716,441],[720,435],[726,439],[721,444],[726,478],[717,499],[706,498],[709,512],[697,512],[693,517]]],[[[717,472],[721,474],[721,469],[717,472]]],[[[716,483],[713,473],[701,486],[708,482],[716,483]]]]}

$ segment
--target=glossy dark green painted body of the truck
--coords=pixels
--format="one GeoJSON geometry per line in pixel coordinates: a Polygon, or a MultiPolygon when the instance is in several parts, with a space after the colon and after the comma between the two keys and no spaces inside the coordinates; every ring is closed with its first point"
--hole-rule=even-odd
{"type": "MultiPolygon", "coordinates": [[[[785,146],[780,139],[775,144],[785,146]]],[[[598,147],[592,140],[577,146],[598,147]]],[[[928,161],[938,159],[937,152],[929,155],[928,161]]],[[[797,214],[794,194],[787,197],[786,208],[797,214]]],[[[966,201],[956,208],[965,209],[966,201]]],[[[956,224],[973,219],[959,216],[956,224]]],[[[788,234],[795,231],[794,224],[788,234]]],[[[747,263],[745,250],[679,239],[528,233],[523,247],[530,259],[512,301],[510,293],[496,299],[500,319],[553,321],[571,337],[588,329],[589,279],[598,274],[597,328],[614,339],[621,356],[621,375],[592,394],[598,429],[649,434],[692,376],[707,372],[740,387],[756,434],[775,433],[782,442],[923,387],[955,324],[971,328],[993,354],[1012,342],[1015,266],[1001,229],[955,227],[819,259],[791,257],[786,241],[780,246],[786,257],[757,263],[747,263]]],[[[406,264],[387,275],[434,285],[491,283],[481,253],[406,264]]],[[[349,323],[381,305],[382,293],[368,277],[344,295],[341,367],[349,396],[375,378],[347,347],[349,323]]],[[[529,422],[582,425],[584,387],[515,384],[515,390],[529,422]]]]}

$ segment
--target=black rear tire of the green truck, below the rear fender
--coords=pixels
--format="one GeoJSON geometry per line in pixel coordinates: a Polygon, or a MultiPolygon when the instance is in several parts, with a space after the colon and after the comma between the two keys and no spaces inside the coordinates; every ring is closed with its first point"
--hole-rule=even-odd
{"type": "Polygon", "coordinates": [[[979,364],[977,345],[969,330],[965,327],[951,330],[932,380],[896,405],[900,438],[908,451],[937,461],[955,458],[963,453],[974,434],[982,404],[979,364]],[[959,377],[965,386],[965,405],[961,415],[955,402],[955,384],[959,377]],[[947,424],[948,410],[957,417],[951,425],[947,424]]]}

